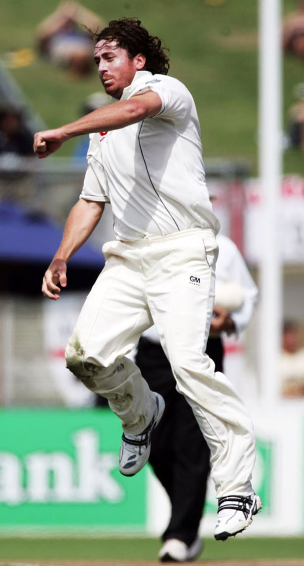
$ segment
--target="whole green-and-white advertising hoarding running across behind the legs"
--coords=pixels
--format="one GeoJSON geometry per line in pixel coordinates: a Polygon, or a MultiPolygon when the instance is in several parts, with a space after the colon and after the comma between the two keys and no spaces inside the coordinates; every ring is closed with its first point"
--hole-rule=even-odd
{"type": "MultiPolygon", "coordinates": [[[[257,435],[252,484],[263,511],[244,536],[303,533],[300,409],[251,408],[257,435]]],[[[0,427],[0,534],[159,536],[166,528],[168,496],[151,469],[131,478],[119,473],[122,429],[109,409],[2,409],[0,427]]],[[[213,534],[216,511],[210,480],[204,537],[213,534]]]]}

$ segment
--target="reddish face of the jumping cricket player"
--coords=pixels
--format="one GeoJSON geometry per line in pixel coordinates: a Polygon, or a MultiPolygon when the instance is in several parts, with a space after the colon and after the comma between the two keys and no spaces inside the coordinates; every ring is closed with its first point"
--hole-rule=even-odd
{"type": "Polygon", "coordinates": [[[117,47],[116,41],[105,39],[95,45],[94,61],[105,92],[114,98],[121,98],[123,89],[129,87],[136,71],[145,64],[142,54],[130,59],[126,49],[117,47]]]}

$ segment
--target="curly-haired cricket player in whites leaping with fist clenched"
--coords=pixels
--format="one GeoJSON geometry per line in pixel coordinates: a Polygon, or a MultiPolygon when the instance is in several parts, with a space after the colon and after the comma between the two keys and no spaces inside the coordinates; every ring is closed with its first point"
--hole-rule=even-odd
{"type": "Polygon", "coordinates": [[[106,265],[68,342],[67,366],[108,398],[121,418],[119,470],[134,475],[148,460],[151,431],[164,404],[126,354],[155,323],[178,390],[211,449],[219,498],[215,538],[225,540],[251,524],[262,502],[251,485],[251,419],[229,380],[204,354],[219,223],[205,186],[194,100],[182,83],[165,76],[168,57],[139,20],[113,20],[95,39],[101,82],[119,101],[35,134],[36,153],[47,157],[67,139],[97,133],[82,198],[68,217],[42,291],[59,298],[68,259],[110,202],[117,239],[103,248],[106,265]]]}

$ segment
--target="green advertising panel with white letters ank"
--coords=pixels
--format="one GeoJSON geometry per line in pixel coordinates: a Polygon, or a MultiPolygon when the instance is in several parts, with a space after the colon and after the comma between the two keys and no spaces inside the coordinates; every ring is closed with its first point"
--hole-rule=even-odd
{"type": "Polygon", "coordinates": [[[109,409],[3,409],[0,427],[0,530],[145,529],[147,469],[119,473],[109,409]]]}

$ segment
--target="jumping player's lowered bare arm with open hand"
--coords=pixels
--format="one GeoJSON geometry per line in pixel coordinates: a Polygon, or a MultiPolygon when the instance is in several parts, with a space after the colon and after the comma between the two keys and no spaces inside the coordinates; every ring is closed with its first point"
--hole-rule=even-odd
{"type": "Polygon", "coordinates": [[[87,241],[98,224],[105,203],[79,199],[68,215],[61,245],[54,255],[52,263],[46,269],[42,281],[44,297],[57,301],[60,287],[66,287],[67,261],[87,241]]]}

